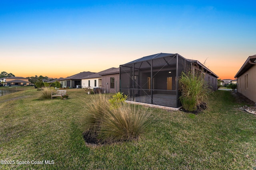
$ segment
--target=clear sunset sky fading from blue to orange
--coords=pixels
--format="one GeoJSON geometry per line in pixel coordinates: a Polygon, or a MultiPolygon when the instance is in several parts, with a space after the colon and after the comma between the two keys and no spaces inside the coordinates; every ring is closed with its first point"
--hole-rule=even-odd
{"type": "Polygon", "coordinates": [[[178,53],[234,79],[256,54],[255,7],[255,0],[0,0],[0,72],[60,78],[178,53]]]}

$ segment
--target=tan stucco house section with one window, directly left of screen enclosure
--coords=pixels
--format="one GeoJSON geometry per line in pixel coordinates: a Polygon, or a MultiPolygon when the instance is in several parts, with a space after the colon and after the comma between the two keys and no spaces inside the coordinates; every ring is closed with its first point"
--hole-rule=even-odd
{"type": "Polygon", "coordinates": [[[120,91],[120,68],[110,68],[100,75],[102,76],[102,92],[116,93],[120,91]]]}

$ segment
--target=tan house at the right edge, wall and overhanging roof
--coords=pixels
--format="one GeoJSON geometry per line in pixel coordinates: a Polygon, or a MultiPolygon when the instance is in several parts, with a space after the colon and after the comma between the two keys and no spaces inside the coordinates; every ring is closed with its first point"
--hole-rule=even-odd
{"type": "Polygon", "coordinates": [[[256,102],[256,55],[248,57],[235,78],[237,78],[237,92],[256,102]]]}

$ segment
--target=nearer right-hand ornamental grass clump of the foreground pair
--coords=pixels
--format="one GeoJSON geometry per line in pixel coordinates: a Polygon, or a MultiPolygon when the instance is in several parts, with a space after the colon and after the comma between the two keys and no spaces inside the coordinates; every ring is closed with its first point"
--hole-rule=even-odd
{"type": "Polygon", "coordinates": [[[146,130],[149,115],[145,107],[131,104],[106,111],[99,134],[100,142],[137,139],[146,130]]]}

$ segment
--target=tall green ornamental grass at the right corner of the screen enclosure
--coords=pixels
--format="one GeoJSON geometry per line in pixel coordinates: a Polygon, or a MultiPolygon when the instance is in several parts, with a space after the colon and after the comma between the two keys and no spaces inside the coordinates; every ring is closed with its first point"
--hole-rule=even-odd
{"type": "Polygon", "coordinates": [[[197,110],[197,106],[206,102],[208,95],[212,92],[204,80],[204,74],[193,74],[182,72],[180,76],[181,96],[180,102],[188,111],[197,110]]]}

